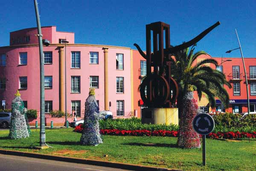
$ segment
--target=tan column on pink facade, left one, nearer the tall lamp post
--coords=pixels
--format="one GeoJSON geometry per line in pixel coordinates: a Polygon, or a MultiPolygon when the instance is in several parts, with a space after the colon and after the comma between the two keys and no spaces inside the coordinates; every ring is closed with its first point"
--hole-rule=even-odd
{"type": "Polygon", "coordinates": [[[59,47],[59,110],[65,111],[65,57],[64,46],[59,47]]]}

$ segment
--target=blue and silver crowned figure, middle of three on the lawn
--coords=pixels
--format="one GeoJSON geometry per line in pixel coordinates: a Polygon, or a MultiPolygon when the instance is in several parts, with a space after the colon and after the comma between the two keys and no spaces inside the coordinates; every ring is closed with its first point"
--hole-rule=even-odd
{"type": "Polygon", "coordinates": [[[106,114],[106,111],[99,112],[94,88],[90,88],[89,97],[85,101],[84,129],[80,139],[81,144],[98,145],[102,143],[99,133],[99,120],[103,119],[106,114]]]}

